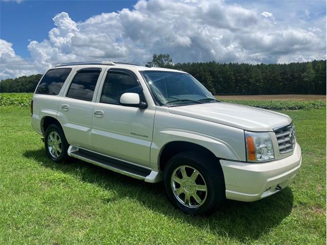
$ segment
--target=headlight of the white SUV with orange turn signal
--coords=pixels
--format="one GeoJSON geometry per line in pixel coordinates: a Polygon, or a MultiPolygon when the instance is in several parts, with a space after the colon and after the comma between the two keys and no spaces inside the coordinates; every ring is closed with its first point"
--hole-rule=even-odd
{"type": "Polygon", "coordinates": [[[274,149],[268,132],[255,133],[245,131],[247,161],[264,162],[273,160],[274,149]]]}

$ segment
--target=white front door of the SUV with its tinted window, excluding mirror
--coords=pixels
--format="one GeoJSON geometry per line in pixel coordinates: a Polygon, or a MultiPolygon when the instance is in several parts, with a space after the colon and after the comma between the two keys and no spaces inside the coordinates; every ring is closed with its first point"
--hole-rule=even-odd
{"type": "Polygon", "coordinates": [[[132,71],[110,68],[94,106],[92,143],[96,152],[149,166],[155,108],[120,105],[120,97],[126,92],[138,93],[145,101],[132,71]]]}

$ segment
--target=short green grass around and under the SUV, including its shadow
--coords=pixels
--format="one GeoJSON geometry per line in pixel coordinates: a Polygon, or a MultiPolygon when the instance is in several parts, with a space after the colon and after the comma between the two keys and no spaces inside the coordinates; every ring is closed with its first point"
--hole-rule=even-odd
{"type": "Polygon", "coordinates": [[[30,94],[19,95],[0,106],[0,244],[325,244],[325,104],[282,111],[303,157],[289,187],[201,217],[175,209],[162,184],[79,160],[53,163],[21,105],[30,94]]]}

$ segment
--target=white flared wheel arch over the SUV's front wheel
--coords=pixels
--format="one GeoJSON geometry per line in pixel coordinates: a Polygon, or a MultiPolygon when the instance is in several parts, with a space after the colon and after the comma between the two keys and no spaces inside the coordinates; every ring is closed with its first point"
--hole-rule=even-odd
{"type": "Polygon", "coordinates": [[[160,153],[165,148],[165,145],[173,141],[185,141],[201,145],[219,158],[242,160],[228,143],[220,139],[191,131],[167,129],[157,132],[152,142],[150,161],[153,169],[159,169],[160,153]]]}

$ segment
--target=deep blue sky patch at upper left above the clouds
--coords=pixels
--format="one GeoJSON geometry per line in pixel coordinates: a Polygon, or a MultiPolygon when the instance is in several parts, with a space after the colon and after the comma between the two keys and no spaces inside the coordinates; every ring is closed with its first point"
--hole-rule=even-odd
{"type": "Polygon", "coordinates": [[[101,13],[131,9],[137,1],[15,1],[0,2],[0,38],[13,43],[17,55],[30,57],[29,40],[42,41],[54,28],[52,18],[61,12],[69,13],[75,21],[101,13]],[[14,14],[13,14],[14,13],[14,14]],[[17,18],[19,16],[19,18],[17,18]],[[24,21],[22,24],[22,20],[24,21]]]}

